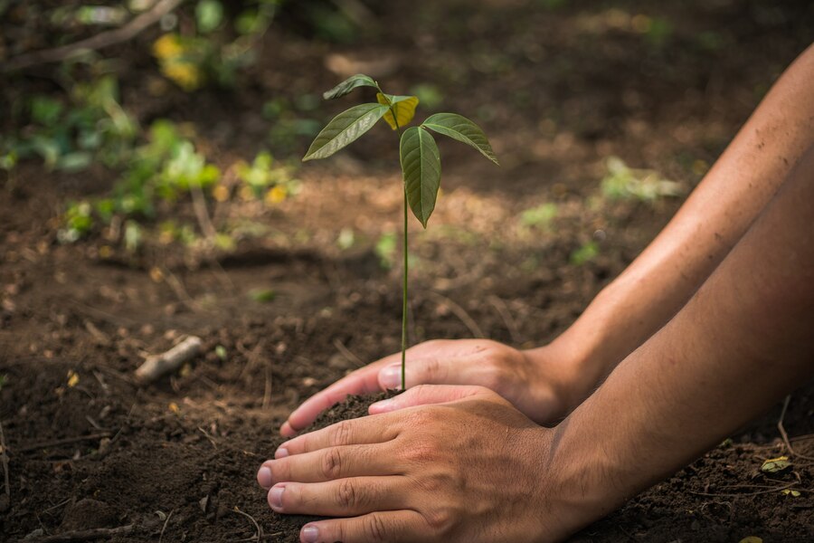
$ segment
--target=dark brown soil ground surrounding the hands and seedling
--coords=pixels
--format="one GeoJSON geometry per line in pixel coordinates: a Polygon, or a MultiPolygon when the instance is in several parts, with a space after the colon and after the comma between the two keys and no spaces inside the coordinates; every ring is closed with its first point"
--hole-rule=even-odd
{"type": "MultiPolygon", "coordinates": [[[[694,186],[810,39],[811,11],[798,4],[393,3],[376,8],[399,22],[390,38],[330,46],[274,29],[253,84],[232,93],[145,99],[146,56],[121,74],[123,100],[142,122],[191,121],[222,156],[249,156],[270,129],[258,120],[262,101],[330,87],[341,77],[325,67],[336,64],[330,54],[354,67],[383,55],[374,75],[396,93],[431,81],[443,100],[436,110],[477,119],[503,166],[442,144],[444,194],[430,229],[411,227],[412,341],[481,334],[528,347],[567,327],[680,205],[602,198],[605,158],[694,186]],[[641,32],[631,15],[642,9],[663,10],[645,13],[670,22],[666,42],[641,32]],[[523,223],[524,210],[546,202],[558,205],[553,222],[523,223]],[[574,262],[592,240],[595,258],[574,262]]],[[[193,264],[159,249],[101,260],[99,240],[57,243],[65,199],[104,192],[115,176],[20,167],[0,195],[0,421],[11,481],[0,539],[134,525],[109,540],[248,541],[256,522],[263,540],[297,540],[254,480],[279,424],[303,398],[398,348],[399,271],[373,251],[400,220],[393,136],[378,127],[367,138],[301,172],[302,193],[260,219],[273,236],[193,264]],[[343,228],[355,232],[345,250],[343,228]],[[163,273],[149,273],[156,267],[163,273]],[[270,303],[248,297],[269,287],[270,303]],[[143,357],[185,334],[204,339],[204,355],[137,386],[143,357]]],[[[814,387],[803,386],[785,424],[809,456],[812,414],[814,387]]],[[[760,471],[783,452],[779,415],[777,406],[573,540],[811,540],[814,462],[760,471]]]]}

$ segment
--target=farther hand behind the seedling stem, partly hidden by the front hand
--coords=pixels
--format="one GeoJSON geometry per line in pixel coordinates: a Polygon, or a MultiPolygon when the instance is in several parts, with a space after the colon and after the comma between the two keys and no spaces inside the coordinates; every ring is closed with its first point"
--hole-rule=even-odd
{"type": "MultiPolygon", "coordinates": [[[[573,407],[566,398],[573,396],[578,377],[570,357],[554,356],[552,347],[521,351],[488,339],[426,341],[407,350],[407,387],[485,386],[536,423],[551,422],[573,407]]],[[[401,388],[401,359],[401,353],[384,357],[311,396],[289,415],[280,433],[296,435],[347,395],[401,388]]]]}

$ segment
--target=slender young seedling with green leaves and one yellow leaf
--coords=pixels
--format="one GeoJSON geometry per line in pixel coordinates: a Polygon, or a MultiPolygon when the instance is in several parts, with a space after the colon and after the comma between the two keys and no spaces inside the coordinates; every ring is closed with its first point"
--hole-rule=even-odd
{"type": "Polygon", "coordinates": [[[481,155],[497,164],[497,157],[489,145],[486,135],[477,124],[457,113],[436,113],[425,119],[421,125],[403,130],[415,115],[419,99],[415,96],[395,96],[385,94],[379,83],[370,76],[356,74],[323,94],[326,100],[340,98],[357,87],[373,87],[377,103],[365,103],[346,110],[322,129],[308,148],[303,161],[327,158],[341,148],[355,141],[373,128],[379,119],[384,118],[399,136],[399,156],[404,181],[404,230],[402,252],[404,258],[402,274],[402,390],[405,386],[405,359],[407,350],[407,220],[408,206],[421,226],[427,228],[427,221],[435,209],[440,187],[440,154],[431,131],[465,143],[478,149],[481,155]]]}

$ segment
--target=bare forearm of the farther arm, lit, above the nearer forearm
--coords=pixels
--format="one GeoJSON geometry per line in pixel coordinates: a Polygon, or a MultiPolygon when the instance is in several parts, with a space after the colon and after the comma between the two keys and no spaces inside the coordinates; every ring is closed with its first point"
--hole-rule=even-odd
{"type": "MultiPolygon", "coordinates": [[[[595,380],[676,314],[814,144],[814,45],[777,81],[685,205],[563,341],[585,344],[595,380]]],[[[595,382],[594,380],[594,382],[595,382]]]]}

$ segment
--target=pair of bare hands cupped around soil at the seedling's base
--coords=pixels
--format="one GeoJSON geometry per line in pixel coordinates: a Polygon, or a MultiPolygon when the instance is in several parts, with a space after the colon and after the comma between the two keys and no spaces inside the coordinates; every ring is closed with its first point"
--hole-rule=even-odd
{"type": "Polygon", "coordinates": [[[345,376],[283,424],[293,438],[258,472],[271,509],[336,517],[305,526],[308,543],[563,537],[565,518],[543,514],[553,431],[535,423],[567,412],[573,367],[545,349],[423,343],[408,351],[408,391],[293,437],[345,395],[400,386],[400,355],[345,376]]]}

